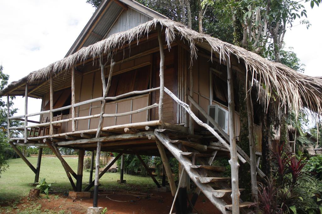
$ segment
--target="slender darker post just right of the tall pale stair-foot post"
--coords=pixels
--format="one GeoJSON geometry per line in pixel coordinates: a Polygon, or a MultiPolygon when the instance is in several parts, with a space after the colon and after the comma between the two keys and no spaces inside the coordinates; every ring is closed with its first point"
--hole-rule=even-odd
{"type": "Polygon", "coordinates": [[[246,106],[247,106],[247,118],[248,118],[248,139],[249,139],[249,150],[250,150],[250,158],[251,158],[251,198],[252,201],[258,202],[257,195],[257,179],[256,179],[256,145],[254,139],[254,110],[253,103],[251,100],[251,86],[249,81],[246,78],[246,106]]]}

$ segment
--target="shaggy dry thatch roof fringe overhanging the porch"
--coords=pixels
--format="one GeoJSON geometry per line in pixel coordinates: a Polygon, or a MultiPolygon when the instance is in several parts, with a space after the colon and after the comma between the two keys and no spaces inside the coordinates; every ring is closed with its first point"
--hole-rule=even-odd
{"type": "Polygon", "coordinates": [[[168,47],[170,47],[170,44],[175,39],[185,39],[190,46],[191,57],[193,58],[197,57],[198,47],[205,48],[211,53],[218,53],[222,62],[225,62],[231,55],[236,56],[241,63],[245,64],[248,74],[253,76],[257,84],[265,86],[265,93],[260,93],[261,100],[266,100],[265,104],[269,104],[271,100],[270,95],[273,94],[274,97],[278,97],[279,107],[283,107],[283,109],[298,111],[308,107],[318,113],[318,115],[321,115],[322,77],[311,77],[298,73],[283,64],[268,61],[242,47],[237,47],[209,35],[198,33],[178,22],[168,19],[154,19],[84,47],[62,60],[30,73],[18,82],[11,83],[5,90],[0,91],[0,96],[5,95],[14,87],[14,84],[19,84],[25,81],[26,78],[30,83],[48,80],[49,76],[57,75],[63,70],[70,70],[76,63],[84,62],[89,58],[110,54],[115,49],[121,48],[132,41],[138,41],[140,38],[147,36],[149,32],[155,31],[157,27],[162,27],[168,47]]]}

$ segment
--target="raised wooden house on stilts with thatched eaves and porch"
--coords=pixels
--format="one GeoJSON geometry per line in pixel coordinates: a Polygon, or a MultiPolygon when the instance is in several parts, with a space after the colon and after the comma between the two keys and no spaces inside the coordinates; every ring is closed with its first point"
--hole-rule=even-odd
{"type": "Polygon", "coordinates": [[[35,181],[42,149],[35,168],[16,146],[49,147],[74,191],[94,187],[93,207],[98,205],[99,178],[114,163],[99,174],[100,151],[118,152],[114,161],[122,154],[161,156],[171,193],[180,198],[176,213],[191,212],[187,178],[197,186],[192,205],[202,192],[222,213],[239,213],[251,204],[240,201],[239,163],[251,166],[254,202],[256,176],[265,177],[259,168],[261,112],[272,119],[289,109],[308,108],[321,115],[321,91],[319,77],[197,33],[135,1],[103,0],[65,58],[11,83],[0,96],[8,101],[9,96],[25,96],[25,114],[8,117],[8,124],[24,119],[24,126],[8,126],[8,135],[24,130],[24,137],[9,137],[9,143],[33,170],[35,181]],[[250,155],[238,146],[241,81],[250,155]],[[28,97],[42,99],[41,112],[28,113],[28,97]],[[35,115],[40,121],[30,124],[28,117],[35,115]],[[80,151],[77,172],[59,147],[80,151]],[[82,188],[85,150],[96,151],[96,173],[82,188]],[[182,166],[178,187],[169,157],[182,166]],[[212,165],[221,157],[230,157],[231,178],[220,177],[225,168],[212,165]]]}

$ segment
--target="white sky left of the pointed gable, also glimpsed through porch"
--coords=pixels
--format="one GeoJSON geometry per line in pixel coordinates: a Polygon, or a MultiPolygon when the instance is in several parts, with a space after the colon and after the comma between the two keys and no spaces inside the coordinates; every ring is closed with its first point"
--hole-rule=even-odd
{"type": "MultiPolygon", "coordinates": [[[[62,59],[93,12],[86,0],[1,1],[0,64],[9,82],[62,59]]],[[[28,101],[29,113],[40,111],[40,99],[28,101]]],[[[23,115],[24,98],[14,103],[23,115]]]]}

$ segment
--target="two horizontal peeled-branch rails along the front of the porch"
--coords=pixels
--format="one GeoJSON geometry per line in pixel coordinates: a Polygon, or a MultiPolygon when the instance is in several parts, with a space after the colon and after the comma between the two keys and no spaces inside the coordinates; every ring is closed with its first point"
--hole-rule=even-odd
{"type": "MultiPolygon", "coordinates": [[[[152,89],[148,89],[148,90],[142,90],[142,91],[132,91],[132,92],[128,92],[128,93],[118,95],[118,96],[115,96],[115,97],[106,97],[105,100],[107,100],[107,101],[118,100],[118,99],[121,99],[121,98],[133,96],[133,95],[146,94],[146,93],[156,91],[156,90],[160,90],[160,87],[152,88],[152,89]]],[[[79,102],[79,103],[75,103],[73,106],[69,105],[69,106],[65,106],[65,107],[60,107],[60,108],[56,108],[56,109],[52,109],[52,110],[46,110],[46,111],[31,113],[31,114],[27,114],[27,115],[11,116],[11,117],[8,117],[8,123],[9,123],[10,120],[22,120],[22,118],[28,118],[30,116],[37,116],[37,115],[43,115],[43,114],[52,114],[53,112],[58,112],[58,111],[70,109],[72,107],[75,108],[75,107],[79,107],[79,106],[82,106],[82,105],[86,105],[86,104],[90,104],[90,103],[94,103],[94,102],[98,102],[98,101],[103,101],[103,97],[94,98],[94,99],[82,101],[82,102],[79,102]]],[[[140,113],[142,111],[146,111],[146,110],[149,110],[151,108],[157,107],[158,105],[159,104],[154,103],[154,104],[152,104],[150,106],[143,107],[143,108],[133,110],[133,111],[129,111],[129,112],[115,113],[115,114],[103,114],[102,117],[119,117],[119,116],[132,115],[132,114],[140,113]]],[[[10,130],[17,130],[17,129],[22,130],[22,129],[26,129],[26,128],[28,129],[28,128],[35,128],[35,127],[44,127],[44,126],[50,126],[50,125],[54,125],[54,124],[67,123],[67,122],[70,122],[70,121],[72,121],[74,123],[75,121],[87,120],[87,119],[98,118],[98,117],[100,117],[100,114],[62,119],[62,120],[58,120],[58,121],[52,121],[52,122],[41,123],[41,124],[33,124],[33,125],[25,125],[25,126],[13,126],[13,127],[8,127],[8,130],[10,131],[10,130]]],[[[8,134],[10,136],[9,132],[8,132],[8,134]]],[[[24,136],[26,134],[27,134],[27,132],[24,133],[24,136]]]]}

